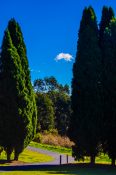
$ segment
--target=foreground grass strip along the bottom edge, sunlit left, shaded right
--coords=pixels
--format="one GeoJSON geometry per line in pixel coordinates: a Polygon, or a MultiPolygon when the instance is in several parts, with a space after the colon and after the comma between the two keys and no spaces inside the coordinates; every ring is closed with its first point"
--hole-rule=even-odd
{"type": "Polygon", "coordinates": [[[116,168],[106,166],[56,166],[32,171],[1,172],[1,175],[116,175],[116,168]]]}

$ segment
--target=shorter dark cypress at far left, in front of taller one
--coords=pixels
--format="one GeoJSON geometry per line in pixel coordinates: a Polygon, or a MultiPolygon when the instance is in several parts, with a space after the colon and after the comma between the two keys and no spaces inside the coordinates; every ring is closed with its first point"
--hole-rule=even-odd
{"type": "MultiPolygon", "coordinates": [[[[1,52],[1,90],[2,90],[2,115],[0,116],[1,124],[1,145],[7,153],[7,160],[10,159],[10,154],[14,149],[14,142],[16,139],[16,120],[18,114],[17,108],[17,91],[19,87],[20,75],[22,72],[20,57],[16,48],[12,44],[9,31],[6,30],[3,38],[2,52],[1,52]],[[16,115],[16,116],[15,116],[16,115]]],[[[22,81],[22,88],[24,84],[22,81]]]]}

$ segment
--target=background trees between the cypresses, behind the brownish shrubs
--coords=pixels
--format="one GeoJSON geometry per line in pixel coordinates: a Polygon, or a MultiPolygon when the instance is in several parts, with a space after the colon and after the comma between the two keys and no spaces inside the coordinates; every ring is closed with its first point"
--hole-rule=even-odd
{"type": "Polygon", "coordinates": [[[45,77],[34,81],[37,104],[37,132],[56,129],[67,135],[71,116],[69,86],[61,85],[56,78],[45,77]]]}

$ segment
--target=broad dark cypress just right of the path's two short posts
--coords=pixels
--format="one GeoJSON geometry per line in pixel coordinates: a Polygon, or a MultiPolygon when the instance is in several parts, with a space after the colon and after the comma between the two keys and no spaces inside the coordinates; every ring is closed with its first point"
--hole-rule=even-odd
{"type": "Polygon", "coordinates": [[[83,11],[78,34],[77,54],[73,65],[72,117],[69,136],[74,141],[76,159],[91,157],[95,162],[101,128],[101,52],[98,28],[92,7],[83,11]]]}

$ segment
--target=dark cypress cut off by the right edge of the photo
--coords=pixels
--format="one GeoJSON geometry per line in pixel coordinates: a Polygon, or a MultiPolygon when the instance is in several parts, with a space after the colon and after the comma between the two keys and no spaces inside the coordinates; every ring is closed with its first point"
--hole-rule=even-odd
{"type": "Polygon", "coordinates": [[[99,30],[99,44],[102,53],[102,85],[103,85],[103,130],[102,145],[115,164],[115,49],[116,21],[111,7],[103,7],[99,30]]]}

